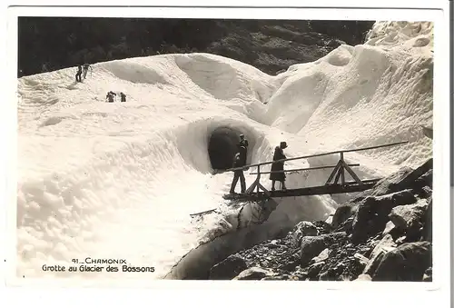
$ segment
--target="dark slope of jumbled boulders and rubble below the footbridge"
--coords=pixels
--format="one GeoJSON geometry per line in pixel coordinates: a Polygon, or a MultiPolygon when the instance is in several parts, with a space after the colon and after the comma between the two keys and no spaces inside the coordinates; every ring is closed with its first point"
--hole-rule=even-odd
{"type": "Polygon", "coordinates": [[[230,255],[209,279],[431,281],[431,195],[432,159],[341,204],[330,222],[230,255]]]}

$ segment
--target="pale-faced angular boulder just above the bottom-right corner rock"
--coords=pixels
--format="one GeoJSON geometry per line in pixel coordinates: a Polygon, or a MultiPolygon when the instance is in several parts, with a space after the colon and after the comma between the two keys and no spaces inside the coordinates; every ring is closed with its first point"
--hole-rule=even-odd
{"type": "Polygon", "coordinates": [[[404,230],[408,238],[418,240],[424,226],[428,205],[426,201],[422,201],[417,204],[396,206],[390,212],[390,220],[404,230]]]}

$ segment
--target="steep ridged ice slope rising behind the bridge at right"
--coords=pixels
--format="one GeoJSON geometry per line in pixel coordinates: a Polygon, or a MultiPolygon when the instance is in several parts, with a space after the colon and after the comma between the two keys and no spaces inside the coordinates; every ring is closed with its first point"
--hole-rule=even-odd
{"type": "Polygon", "coordinates": [[[341,45],[291,66],[271,97],[268,124],[306,137],[311,151],[408,140],[400,151],[368,156],[421,164],[431,153],[420,125],[432,121],[432,30],[429,23],[379,23],[365,45],[341,45]]]}

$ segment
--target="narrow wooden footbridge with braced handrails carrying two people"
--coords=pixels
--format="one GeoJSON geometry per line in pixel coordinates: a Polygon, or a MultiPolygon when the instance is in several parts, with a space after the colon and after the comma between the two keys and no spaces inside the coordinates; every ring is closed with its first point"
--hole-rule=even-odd
{"type": "Polygon", "coordinates": [[[377,149],[380,147],[387,147],[399,144],[407,144],[408,141],[403,141],[394,144],[382,144],[370,147],[363,147],[351,150],[341,150],[341,151],[334,151],[322,154],[311,154],[299,157],[291,157],[286,159],[281,159],[274,162],[265,162],[259,164],[249,164],[239,168],[232,168],[226,170],[226,172],[236,171],[236,170],[244,170],[246,168],[257,167],[257,171],[251,174],[257,174],[255,181],[252,185],[246,190],[244,194],[224,194],[223,198],[227,200],[240,200],[240,201],[261,201],[270,199],[273,197],[291,197],[291,196],[300,196],[300,195],[317,195],[317,194],[346,194],[346,193],[354,193],[354,192],[362,192],[372,188],[377,182],[381,179],[370,179],[370,180],[360,180],[360,177],[353,172],[351,169],[352,167],[357,167],[360,164],[346,164],[344,161],[344,154],[349,152],[360,152],[366,150],[377,149]],[[261,176],[262,174],[271,174],[271,173],[281,173],[281,171],[266,171],[261,172],[261,166],[265,164],[272,164],[275,162],[288,162],[292,160],[299,160],[317,156],[324,156],[324,155],[331,155],[331,154],[340,154],[339,162],[336,165],[325,165],[325,166],[316,166],[316,167],[309,167],[309,168],[301,168],[301,169],[291,169],[291,170],[284,170],[284,173],[291,173],[291,172],[298,172],[298,171],[311,171],[311,170],[320,170],[320,169],[331,169],[334,168],[328,177],[328,180],[324,185],[321,186],[312,186],[312,187],[301,187],[295,189],[286,189],[286,190],[277,190],[277,191],[269,191],[261,184],[261,176]],[[350,174],[353,181],[346,182],[345,181],[345,172],[350,174]],[[341,180],[341,182],[340,182],[341,180]]]}

